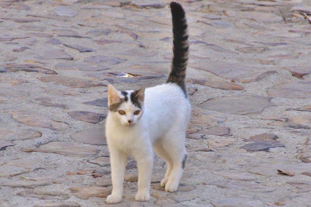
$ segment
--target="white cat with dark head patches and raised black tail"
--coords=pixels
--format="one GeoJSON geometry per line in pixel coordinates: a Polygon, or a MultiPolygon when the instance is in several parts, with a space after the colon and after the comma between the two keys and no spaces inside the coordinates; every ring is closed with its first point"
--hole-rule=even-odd
{"type": "Polygon", "coordinates": [[[108,85],[106,138],[110,153],[112,193],[108,204],[118,203],[123,195],[124,172],[128,155],[137,162],[137,201],[150,199],[153,149],[165,160],[167,171],[161,186],[174,192],[187,160],[185,137],[191,106],[185,85],[188,61],[188,32],[185,12],[170,3],[173,22],[173,58],[168,80],[162,85],[139,90],[118,91],[108,85]]]}

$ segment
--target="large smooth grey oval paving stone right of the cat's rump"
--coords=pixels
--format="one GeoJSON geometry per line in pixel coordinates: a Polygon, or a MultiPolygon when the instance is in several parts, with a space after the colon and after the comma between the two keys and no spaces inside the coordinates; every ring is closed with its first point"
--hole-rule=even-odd
{"type": "Polygon", "coordinates": [[[197,106],[221,113],[252,116],[261,114],[266,107],[275,106],[270,102],[271,99],[272,97],[264,96],[224,96],[210,99],[197,106]]]}

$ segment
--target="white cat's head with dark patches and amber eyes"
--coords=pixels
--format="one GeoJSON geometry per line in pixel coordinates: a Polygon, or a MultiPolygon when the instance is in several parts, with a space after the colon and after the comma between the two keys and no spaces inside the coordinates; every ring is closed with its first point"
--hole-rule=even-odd
{"type": "Polygon", "coordinates": [[[123,126],[133,126],[142,117],[145,87],[139,90],[118,91],[108,85],[109,113],[123,126]]]}

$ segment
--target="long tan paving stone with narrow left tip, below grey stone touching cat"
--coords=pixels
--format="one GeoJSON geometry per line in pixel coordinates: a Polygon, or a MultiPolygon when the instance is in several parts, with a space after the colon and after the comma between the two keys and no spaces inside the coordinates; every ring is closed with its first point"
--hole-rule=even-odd
{"type": "Polygon", "coordinates": [[[50,142],[39,148],[22,148],[25,152],[47,152],[75,157],[89,157],[99,152],[97,148],[85,147],[73,142],[50,142]]]}

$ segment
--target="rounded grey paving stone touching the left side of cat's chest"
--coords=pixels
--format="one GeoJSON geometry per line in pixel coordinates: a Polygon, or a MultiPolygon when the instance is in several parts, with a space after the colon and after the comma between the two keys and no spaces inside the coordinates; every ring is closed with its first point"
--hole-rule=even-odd
{"type": "Polygon", "coordinates": [[[105,130],[100,128],[86,129],[70,136],[74,141],[90,145],[107,145],[105,130]]]}

